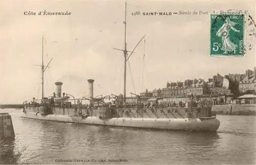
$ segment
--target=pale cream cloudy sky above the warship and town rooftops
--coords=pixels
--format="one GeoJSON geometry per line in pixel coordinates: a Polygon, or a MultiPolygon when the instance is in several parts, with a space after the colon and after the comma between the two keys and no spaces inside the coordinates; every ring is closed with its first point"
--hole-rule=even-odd
{"type": "MultiPolygon", "coordinates": [[[[42,36],[44,36],[45,96],[62,92],[76,98],[89,94],[87,79],[95,79],[94,96],[123,93],[125,1],[5,1],[0,2],[0,104],[41,97],[42,36]],[[36,12],[25,15],[24,12],[36,12]],[[66,16],[40,11],[71,12],[66,16]]],[[[248,10],[256,19],[254,1],[127,1],[126,96],[164,88],[167,81],[204,78],[220,73],[245,73],[255,66],[255,39],[245,57],[209,56],[209,14],[143,16],[133,12],[193,12],[248,10]],[[144,56],[145,54],[145,56],[144,56]],[[144,57],[144,58],[143,58],[144,57]]],[[[246,15],[248,18],[248,15],[246,15]]],[[[246,25],[248,26],[248,25],[246,25]]],[[[250,26],[251,27],[251,26],[250,26]]],[[[246,28],[246,27],[245,27],[246,28]]],[[[247,29],[249,30],[249,29],[247,29]]]]}

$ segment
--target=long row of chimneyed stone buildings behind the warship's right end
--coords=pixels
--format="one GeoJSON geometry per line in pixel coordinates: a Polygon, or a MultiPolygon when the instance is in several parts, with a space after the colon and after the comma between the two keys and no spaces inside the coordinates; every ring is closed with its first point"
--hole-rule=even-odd
{"type": "MultiPolygon", "coordinates": [[[[239,77],[239,76],[237,76],[239,77]]],[[[141,97],[166,97],[165,101],[186,102],[188,95],[193,93],[198,98],[208,98],[213,102],[226,103],[232,100],[233,94],[228,89],[230,79],[220,74],[204,79],[186,79],[184,82],[167,82],[166,88],[154,89],[152,92],[140,93],[141,97]],[[210,97],[211,96],[211,97],[210,97]]]]}

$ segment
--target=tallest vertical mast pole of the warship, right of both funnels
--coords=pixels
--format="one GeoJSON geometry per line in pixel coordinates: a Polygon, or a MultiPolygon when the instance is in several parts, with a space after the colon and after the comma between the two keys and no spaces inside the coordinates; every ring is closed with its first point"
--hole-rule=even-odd
{"type": "Polygon", "coordinates": [[[127,59],[127,45],[126,45],[126,2],[125,2],[125,20],[124,20],[124,73],[123,73],[123,102],[126,101],[126,59],[127,59]]]}

